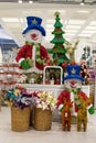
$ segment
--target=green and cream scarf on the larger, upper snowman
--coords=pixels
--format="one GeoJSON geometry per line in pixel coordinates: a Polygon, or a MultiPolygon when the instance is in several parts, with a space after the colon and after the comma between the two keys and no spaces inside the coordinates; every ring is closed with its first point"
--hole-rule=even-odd
{"type": "Polygon", "coordinates": [[[41,59],[41,56],[40,56],[40,46],[41,46],[41,43],[32,43],[32,42],[25,42],[26,45],[35,45],[35,62],[39,63],[39,64],[44,64],[45,61],[44,59],[41,59]]]}

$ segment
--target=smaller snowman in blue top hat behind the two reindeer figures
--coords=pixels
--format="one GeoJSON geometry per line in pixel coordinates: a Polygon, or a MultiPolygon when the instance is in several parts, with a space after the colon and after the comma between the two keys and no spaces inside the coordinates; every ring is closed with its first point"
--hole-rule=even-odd
{"type": "Polygon", "coordinates": [[[66,66],[67,75],[64,77],[64,90],[57,97],[57,108],[60,111],[64,110],[64,99],[70,98],[73,102],[73,116],[77,116],[79,109],[83,109],[83,106],[86,105],[86,110],[90,114],[95,112],[95,109],[87,97],[87,95],[82,90],[83,77],[79,75],[81,66],[79,65],[67,65],[66,66]]]}

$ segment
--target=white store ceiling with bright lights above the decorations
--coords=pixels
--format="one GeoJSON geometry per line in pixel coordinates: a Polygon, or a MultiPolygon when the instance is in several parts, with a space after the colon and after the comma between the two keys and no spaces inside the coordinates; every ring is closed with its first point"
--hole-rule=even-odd
{"type": "Polygon", "coordinates": [[[23,3],[18,3],[17,0],[2,1],[0,0],[0,24],[7,31],[7,35],[14,38],[19,45],[24,44],[22,31],[26,28],[25,18],[28,15],[36,15],[43,19],[42,25],[46,30],[43,43],[50,43],[53,38],[51,33],[54,29],[54,12],[56,11],[60,12],[66,40],[73,42],[76,38],[86,38],[87,41],[96,42],[96,6],[94,0],[85,0],[87,3],[85,6],[76,3],[81,0],[72,0],[75,4],[38,3],[38,1],[57,2],[57,0],[33,0],[36,3],[33,2],[31,4],[26,0],[23,3]]]}

